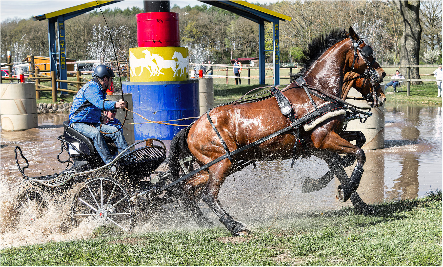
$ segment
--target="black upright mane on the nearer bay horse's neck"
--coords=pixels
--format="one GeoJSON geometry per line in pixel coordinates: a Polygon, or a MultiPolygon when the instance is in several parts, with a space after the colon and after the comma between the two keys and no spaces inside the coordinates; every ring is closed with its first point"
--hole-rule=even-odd
{"type": "Polygon", "coordinates": [[[311,43],[307,46],[307,50],[303,50],[303,56],[300,59],[303,63],[303,68],[297,73],[290,73],[290,81],[293,82],[295,79],[303,75],[328,48],[347,37],[347,32],[344,29],[334,29],[326,36],[320,34],[316,38],[312,39],[311,43]]]}

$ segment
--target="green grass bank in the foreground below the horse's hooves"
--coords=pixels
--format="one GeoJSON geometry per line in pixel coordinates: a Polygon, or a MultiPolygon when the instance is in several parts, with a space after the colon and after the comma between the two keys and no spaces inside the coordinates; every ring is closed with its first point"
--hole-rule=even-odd
{"type": "Polygon", "coordinates": [[[225,228],[121,235],[1,250],[3,266],[441,266],[442,194],[375,205],[377,216],[338,211],[294,214],[248,237],[225,228]]]}

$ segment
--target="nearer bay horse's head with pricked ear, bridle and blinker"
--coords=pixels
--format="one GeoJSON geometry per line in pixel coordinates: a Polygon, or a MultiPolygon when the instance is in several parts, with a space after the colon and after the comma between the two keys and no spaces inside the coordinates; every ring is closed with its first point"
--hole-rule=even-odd
{"type": "Polygon", "coordinates": [[[373,57],[372,47],[352,27],[349,27],[349,39],[352,41],[352,49],[347,54],[349,71],[370,77],[374,82],[383,82],[386,73],[373,57]]]}

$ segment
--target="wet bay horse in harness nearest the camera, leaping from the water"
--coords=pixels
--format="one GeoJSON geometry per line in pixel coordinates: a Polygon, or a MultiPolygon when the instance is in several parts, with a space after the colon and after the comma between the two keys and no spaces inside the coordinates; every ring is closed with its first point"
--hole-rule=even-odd
{"type": "MultiPolygon", "coordinates": [[[[365,44],[352,27],[349,28],[349,33],[345,30],[333,30],[326,36],[319,35],[308,45],[308,50],[304,51],[304,55],[305,67],[296,74],[298,77],[295,78],[302,77],[305,81],[303,85],[308,85],[311,89],[317,88],[318,92],[322,92],[319,94],[332,98],[341,96],[344,76],[350,71],[359,75],[366,74],[376,82],[383,81],[386,75],[373,58],[372,48],[365,44]]],[[[295,118],[304,118],[306,114],[311,114],[314,107],[317,109],[316,105],[327,106],[327,101],[322,100],[319,94],[317,94],[318,97],[311,96],[302,87],[293,82],[282,90],[284,96],[290,101],[291,115],[295,118]]],[[[276,98],[218,106],[208,111],[207,116],[198,118],[187,129],[181,130],[173,138],[168,157],[172,180],[179,179],[179,160],[185,157],[192,156],[192,160],[202,166],[223,155],[228,156],[182,184],[183,193],[189,197],[188,205],[191,208],[194,207],[191,212],[197,219],[202,220],[202,224],[210,224],[210,222],[204,218],[197,207],[196,201],[199,196],[233,235],[249,234],[246,227],[234,220],[218,200],[221,185],[229,174],[237,170],[239,161],[297,159],[300,156],[314,155],[324,159],[328,165],[332,165],[334,162],[331,162],[330,155],[337,153],[354,155],[357,159],[357,165],[350,179],[346,180],[344,176],[339,175],[338,179],[342,183],[338,188],[339,192],[342,192],[345,201],[351,198],[353,204],[355,202],[354,207],[365,214],[372,212],[369,206],[363,201],[357,201],[354,197],[358,196],[355,190],[360,183],[366,158],[361,148],[338,134],[342,131],[344,113],[337,113],[320,121],[317,125],[311,125],[311,129],[306,130],[304,127],[297,127],[297,130],[290,129],[244,151],[229,154],[229,151],[234,151],[290,126],[291,122],[282,112],[280,106],[276,104],[276,98]],[[210,119],[212,119],[212,125],[210,119]],[[295,146],[296,141],[302,145],[295,146]]]]}

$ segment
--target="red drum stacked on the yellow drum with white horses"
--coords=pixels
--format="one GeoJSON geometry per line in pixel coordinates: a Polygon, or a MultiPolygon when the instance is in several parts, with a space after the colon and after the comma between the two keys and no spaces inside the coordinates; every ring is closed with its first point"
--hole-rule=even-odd
{"type": "Polygon", "coordinates": [[[137,14],[138,47],[179,47],[179,13],[137,14]]]}

